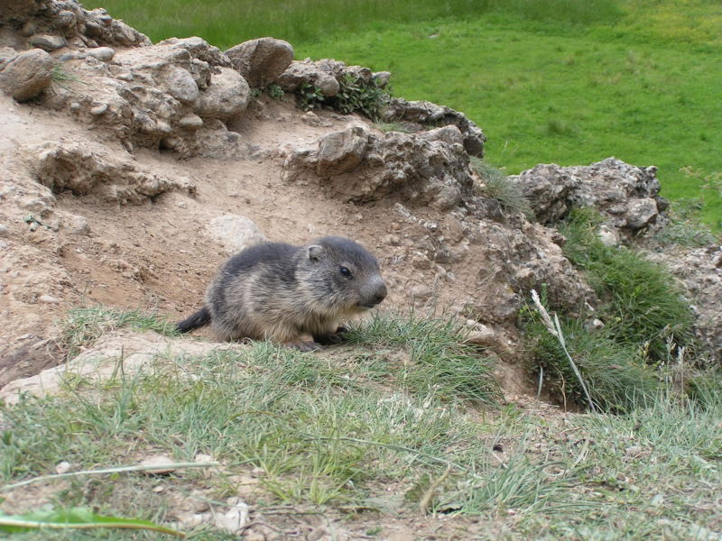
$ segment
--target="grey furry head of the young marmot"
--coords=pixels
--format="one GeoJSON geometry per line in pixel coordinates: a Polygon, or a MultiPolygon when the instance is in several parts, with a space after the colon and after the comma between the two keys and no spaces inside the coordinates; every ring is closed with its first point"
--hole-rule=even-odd
{"type": "Polygon", "coordinates": [[[319,304],[362,312],[386,298],[376,258],[359,243],[337,236],[317,239],[304,249],[303,278],[319,304]]]}

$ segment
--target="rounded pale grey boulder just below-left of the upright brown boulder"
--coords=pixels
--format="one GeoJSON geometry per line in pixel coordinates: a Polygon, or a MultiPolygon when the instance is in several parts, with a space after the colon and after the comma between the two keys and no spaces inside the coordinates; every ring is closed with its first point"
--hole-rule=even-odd
{"type": "Polygon", "coordinates": [[[200,93],[194,111],[201,118],[229,120],[241,115],[248,106],[251,88],[235,69],[220,68],[210,87],[200,93]]]}

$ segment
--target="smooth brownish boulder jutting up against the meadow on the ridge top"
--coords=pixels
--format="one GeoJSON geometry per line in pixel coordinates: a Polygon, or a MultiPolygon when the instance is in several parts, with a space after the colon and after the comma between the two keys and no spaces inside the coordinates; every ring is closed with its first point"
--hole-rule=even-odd
{"type": "Polygon", "coordinates": [[[288,41],[259,38],[228,49],[226,56],[251,87],[265,87],[289,67],[293,48],[288,41]]]}

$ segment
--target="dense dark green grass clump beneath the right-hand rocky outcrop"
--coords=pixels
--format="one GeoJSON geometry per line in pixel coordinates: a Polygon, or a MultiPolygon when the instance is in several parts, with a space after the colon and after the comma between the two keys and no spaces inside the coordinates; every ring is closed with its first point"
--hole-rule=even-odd
{"type": "MultiPolygon", "coordinates": [[[[560,327],[594,404],[629,411],[662,390],[661,371],[685,361],[690,350],[682,346],[692,342],[693,315],[669,271],[639,252],[600,241],[602,222],[595,210],[582,208],[560,227],[567,238],[565,255],[585,271],[601,301],[593,313],[562,314],[560,327]],[[601,328],[588,323],[593,319],[601,328]]],[[[547,332],[533,310],[524,311],[523,326],[532,343],[532,371],[551,390],[584,403],[583,385],[558,337],[547,332]]]]}

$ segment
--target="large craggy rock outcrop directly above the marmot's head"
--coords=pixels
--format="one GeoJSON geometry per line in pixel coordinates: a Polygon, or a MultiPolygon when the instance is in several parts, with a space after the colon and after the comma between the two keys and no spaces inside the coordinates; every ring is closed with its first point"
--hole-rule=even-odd
{"type": "Polygon", "coordinates": [[[355,124],[293,150],[283,175],[289,182],[314,179],[349,201],[393,195],[412,206],[449,210],[472,191],[461,137],[454,127],[419,137],[398,132],[377,135],[366,124],[355,124]]]}

